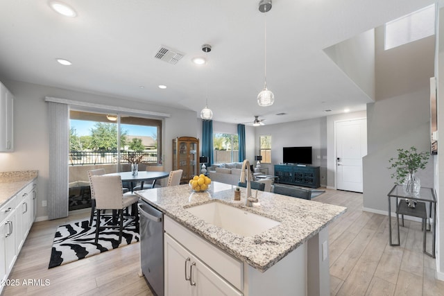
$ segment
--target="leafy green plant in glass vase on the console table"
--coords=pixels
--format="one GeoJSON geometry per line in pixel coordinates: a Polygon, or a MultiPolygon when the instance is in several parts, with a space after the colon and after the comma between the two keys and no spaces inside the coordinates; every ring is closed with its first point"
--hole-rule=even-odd
{"type": "MultiPolygon", "coordinates": [[[[429,153],[421,152],[415,147],[410,150],[398,149],[398,158],[388,159],[391,164],[388,168],[394,168],[395,172],[391,174],[392,179],[396,179],[397,184],[402,184],[404,193],[407,195],[418,195],[420,189],[420,180],[415,176],[419,169],[424,169],[429,160],[429,153]]],[[[414,207],[414,206],[413,206],[414,207]]]]}

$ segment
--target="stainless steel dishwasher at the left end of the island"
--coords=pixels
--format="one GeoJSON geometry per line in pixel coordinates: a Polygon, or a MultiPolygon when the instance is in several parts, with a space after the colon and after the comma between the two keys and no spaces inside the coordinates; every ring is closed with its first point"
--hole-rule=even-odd
{"type": "Polygon", "coordinates": [[[164,295],[164,215],[147,202],[137,205],[140,212],[140,265],[157,296],[164,295]]]}

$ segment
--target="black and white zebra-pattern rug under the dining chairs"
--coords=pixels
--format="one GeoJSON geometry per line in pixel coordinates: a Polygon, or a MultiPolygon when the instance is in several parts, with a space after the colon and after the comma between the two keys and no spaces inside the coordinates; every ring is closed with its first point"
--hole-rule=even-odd
{"type": "MultiPolygon", "coordinates": [[[[105,220],[102,221],[104,223],[105,220]]],[[[94,243],[96,220],[93,221],[91,227],[88,223],[89,220],[84,220],[58,227],[54,236],[48,268],[54,268],[139,241],[139,229],[134,221],[123,229],[120,245],[119,228],[103,228],[99,232],[99,242],[94,243]]]]}

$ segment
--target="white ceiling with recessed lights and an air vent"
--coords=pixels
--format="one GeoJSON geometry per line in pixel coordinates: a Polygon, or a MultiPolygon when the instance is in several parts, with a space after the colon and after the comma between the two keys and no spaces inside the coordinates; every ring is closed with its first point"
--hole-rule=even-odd
{"type": "Polygon", "coordinates": [[[207,99],[215,121],[253,123],[256,115],[267,124],[365,110],[372,99],[323,49],[434,3],[274,0],[264,14],[259,0],[60,1],[77,17],[58,15],[48,1],[1,0],[0,77],[197,114],[207,99]],[[271,107],[256,99],[264,87],[265,19],[271,107]],[[203,44],[212,51],[201,51],[203,44]],[[157,60],[160,46],[185,55],[177,64],[157,60]],[[193,64],[198,56],[207,64],[193,64]]]}

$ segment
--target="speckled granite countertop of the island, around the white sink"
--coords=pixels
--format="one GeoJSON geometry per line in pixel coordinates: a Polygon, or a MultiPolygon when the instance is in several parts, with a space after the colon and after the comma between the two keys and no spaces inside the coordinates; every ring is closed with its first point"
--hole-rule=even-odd
{"type": "MultiPolygon", "coordinates": [[[[205,193],[194,193],[187,184],[135,193],[192,232],[261,272],[271,268],[347,210],[345,207],[265,191],[258,191],[258,204],[245,207],[244,199],[242,203],[234,202],[234,187],[212,182],[209,191],[205,193]],[[188,207],[212,201],[228,203],[278,220],[280,225],[255,236],[241,236],[206,223],[186,211],[188,207]]],[[[252,193],[255,195],[254,190],[252,193]]],[[[241,188],[241,196],[245,195],[246,189],[241,188]]]]}

